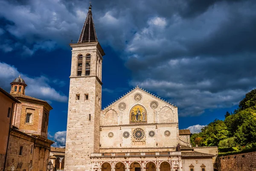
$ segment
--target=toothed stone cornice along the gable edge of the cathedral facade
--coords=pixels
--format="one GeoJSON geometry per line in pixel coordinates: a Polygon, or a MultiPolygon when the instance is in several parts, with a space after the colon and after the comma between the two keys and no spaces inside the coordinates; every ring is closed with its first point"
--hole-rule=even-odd
{"type": "Polygon", "coordinates": [[[146,91],[146,90],[140,88],[139,86],[136,86],[135,88],[131,89],[131,91],[129,91],[129,92],[127,92],[126,94],[124,94],[123,96],[119,97],[119,99],[113,101],[113,102],[112,102],[111,104],[109,104],[107,107],[104,107],[104,109],[102,110],[102,112],[104,113],[104,112],[110,110],[111,107],[112,107],[114,104],[117,104],[117,103],[121,102],[125,97],[131,95],[132,93],[134,93],[134,92],[137,91],[137,90],[139,90],[139,91],[141,91],[141,92],[143,92],[143,93],[145,93],[145,94],[151,96],[152,98],[154,98],[154,99],[156,99],[156,100],[163,101],[163,102],[164,102],[166,105],[168,105],[168,106],[177,108],[176,105],[169,103],[169,101],[166,101],[166,100],[164,100],[164,99],[161,99],[160,97],[154,95],[153,93],[150,93],[150,92],[148,92],[148,91],[146,91]]]}

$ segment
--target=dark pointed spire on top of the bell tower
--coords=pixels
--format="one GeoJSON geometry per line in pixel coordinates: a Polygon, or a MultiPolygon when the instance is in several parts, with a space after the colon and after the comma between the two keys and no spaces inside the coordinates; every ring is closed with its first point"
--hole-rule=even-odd
{"type": "Polygon", "coordinates": [[[93,14],[91,9],[92,7],[90,5],[78,43],[90,43],[98,41],[93,23],[93,14]]]}

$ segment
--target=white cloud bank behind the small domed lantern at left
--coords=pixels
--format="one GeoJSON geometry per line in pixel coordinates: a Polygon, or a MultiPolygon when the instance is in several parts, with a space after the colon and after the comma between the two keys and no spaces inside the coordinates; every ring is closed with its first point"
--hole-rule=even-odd
{"type": "MultiPolygon", "coordinates": [[[[19,75],[17,68],[0,62],[0,71],[0,86],[5,90],[10,90],[10,83],[19,75]]],[[[51,82],[49,78],[42,75],[31,78],[24,74],[21,74],[21,77],[28,85],[25,91],[26,95],[46,101],[54,100],[59,102],[67,102],[67,96],[61,92],[58,92],[49,85],[51,82]]]]}

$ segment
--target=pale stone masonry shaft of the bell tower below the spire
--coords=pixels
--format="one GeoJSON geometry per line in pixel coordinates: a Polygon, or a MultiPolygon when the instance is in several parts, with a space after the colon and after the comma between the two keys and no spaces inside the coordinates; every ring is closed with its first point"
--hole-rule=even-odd
{"type": "MultiPolygon", "coordinates": [[[[89,171],[90,154],[99,153],[102,86],[97,74],[97,43],[73,47],[67,116],[65,171],[89,171]],[[90,54],[90,75],[84,75],[85,56],[90,54]],[[76,76],[77,56],[83,55],[81,76],[76,76]],[[88,94],[88,99],[86,99],[88,94]]],[[[101,74],[100,74],[101,75],[101,74]]]]}

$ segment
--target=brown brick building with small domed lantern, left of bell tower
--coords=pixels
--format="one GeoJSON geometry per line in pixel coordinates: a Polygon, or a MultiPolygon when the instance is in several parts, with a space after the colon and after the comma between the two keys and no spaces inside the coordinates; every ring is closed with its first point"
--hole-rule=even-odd
{"type": "MultiPolygon", "coordinates": [[[[45,171],[50,146],[47,139],[49,111],[52,107],[40,99],[25,95],[25,81],[19,76],[11,83],[12,121],[4,171],[45,171]]],[[[5,106],[6,107],[6,106],[5,106]]],[[[9,124],[10,125],[10,124],[9,124]]]]}

